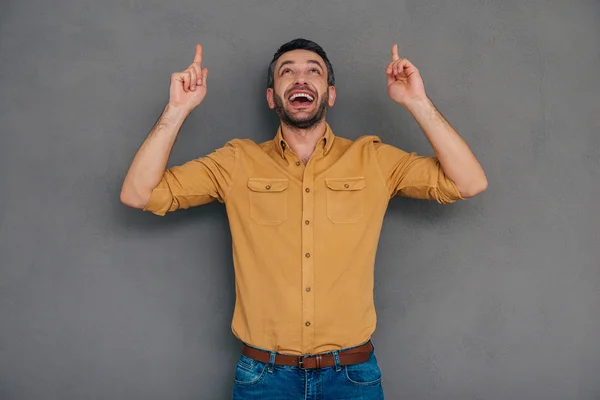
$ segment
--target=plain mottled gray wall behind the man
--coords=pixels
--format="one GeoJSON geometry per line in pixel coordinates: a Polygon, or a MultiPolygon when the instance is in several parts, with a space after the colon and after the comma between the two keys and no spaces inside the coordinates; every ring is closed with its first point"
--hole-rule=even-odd
{"type": "Polygon", "coordinates": [[[376,266],[390,399],[600,399],[600,3],[4,0],[0,399],[224,399],[240,344],[222,205],[119,202],[170,74],[208,95],[169,165],[270,139],[265,72],[295,37],[337,77],[337,135],[432,154],[393,103],[391,44],[481,161],[488,190],[397,198],[376,266]]]}

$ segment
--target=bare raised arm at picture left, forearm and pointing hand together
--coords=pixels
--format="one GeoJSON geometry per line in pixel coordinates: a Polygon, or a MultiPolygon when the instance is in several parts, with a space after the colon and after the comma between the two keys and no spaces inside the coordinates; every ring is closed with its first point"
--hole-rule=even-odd
{"type": "Polygon", "coordinates": [[[187,116],[206,95],[208,69],[202,68],[202,46],[196,45],[192,64],[171,75],[169,103],[137,151],[121,188],[121,201],[143,209],[161,183],[177,134],[187,116]]]}

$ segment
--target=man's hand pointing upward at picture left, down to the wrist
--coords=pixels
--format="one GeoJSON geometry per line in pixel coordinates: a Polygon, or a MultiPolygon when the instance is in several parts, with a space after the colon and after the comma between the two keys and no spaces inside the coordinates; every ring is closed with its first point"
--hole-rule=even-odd
{"type": "Polygon", "coordinates": [[[196,45],[194,62],[183,72],[171,75],[169,105],[191,112],[206,96],[208,69],[202,69],[202,46],[196,45]]]}

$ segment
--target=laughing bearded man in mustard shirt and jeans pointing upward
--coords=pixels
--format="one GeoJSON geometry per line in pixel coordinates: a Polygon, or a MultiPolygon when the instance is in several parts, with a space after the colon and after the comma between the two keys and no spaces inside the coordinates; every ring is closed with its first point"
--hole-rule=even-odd
{"type": "Polygon", "coordinates": [[[225,204],[233,242],[232,331],[243,343],[234,399],[381,399],[374,260],[396,195],[452,203],[487,187],[467,144],[428,99],[417,68],[392,47],[388,93],[406,107],[435,157],[351,141],[325,121],[335,103],[323,49],[296,39],[275,53],[267,102],[281,125],[273,140],[235,139],[165,171],[179,129],[206,95],[202,47],[171,76],[164,113],[137,152],[121,201],[165,215],[225,204]]]}

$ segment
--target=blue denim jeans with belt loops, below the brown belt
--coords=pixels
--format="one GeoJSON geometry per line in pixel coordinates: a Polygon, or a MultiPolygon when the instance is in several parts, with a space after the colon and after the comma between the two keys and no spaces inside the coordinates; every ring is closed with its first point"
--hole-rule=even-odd
{"type": "Polygon", "coordinates": [[[233,400],[382,400],[381,370],[371,352],[369,360],[354,365],[300,369],[263,363],[240,356],[235,370],[233,400]]]}

